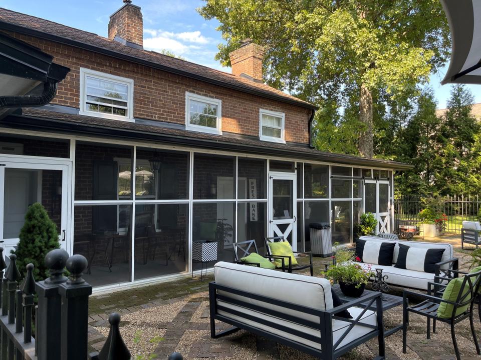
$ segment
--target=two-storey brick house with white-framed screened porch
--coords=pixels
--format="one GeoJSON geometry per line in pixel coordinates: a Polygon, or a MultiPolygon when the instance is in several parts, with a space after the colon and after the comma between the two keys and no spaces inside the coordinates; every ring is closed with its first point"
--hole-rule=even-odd
{"type": "Polygon", "coordinates": [[[316,106],[262,82],[262,46],[233,51],[232,74],[147,51],[124,2],[108,38],[0,9],[0,32],[71,69],[50,104],[0,119],[7,249],[35,201],[102,289],[197,271],[198,240],[230,261],[236,240],[309,250],[312,222],[349,243],[363,211],[393,230],[393,172],[408,165],[313,149],[316,106]]]}

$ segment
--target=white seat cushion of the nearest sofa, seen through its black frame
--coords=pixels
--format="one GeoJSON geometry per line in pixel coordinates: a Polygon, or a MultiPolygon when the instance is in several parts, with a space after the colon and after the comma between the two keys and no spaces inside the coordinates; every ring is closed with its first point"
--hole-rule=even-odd
{"type": "MultiPolygon", "coordinates": [[[[249,314],[249,315],[255,316],[256,318],[259,318],[259,319],[269,320],[269,321],[275,322],[278,325],[286,326],[290,329],[298,330],[298,331],[301,331],[305,334],[315,336],[319,340],[316,340],[316,341],[308,340],[308,339],[305,339],[301,336],[293,335],[291,333],[282,331],[279,328],[271,327],[271,326],[262,324],[260,322],[257,322],[255,320],[246,319],[243,316],[233,315],[233,314],[230,314],[227,311],[218,310],[219,315],[223,315],[223,316],[225,316],[227,318],[230,318],[232,320],[236,320],[236,321],[245,323],[247,325],[254,326],[254,327],[262,329],[264,331],[268,331],[268,332],[274,333],[276,335],[279,335],[279,336],[288,338],[290,340],[297,341],[297,342],[300,342],[304,345],[311,346],[311,347],[314,347],[318,350],[321,350],[320,341],[321,341],[321,333],[322,332],[319,331],[318,329],[314,329],[314,328],[308,327],[308,326],[303,326],[303,325],[300,325],[296,322],[287,321],[287,320],[284,320],[282,318],[271,316],[271,315],[265,314],[263,312],[254,311],[254,310],[251,310],[251,309],[248,309],[248,308],[245,308],[245,307],[242,307],[242,306],[234,305],[234,304],[231,304],[231,303],[227,303],[227,302],[224,302],[224,301],[217,301],[217,305],[225,306],[229,309],[240,311],[243,314],[249,314]]],[[[356,317],[362,311],[362,309],[359,308],[359,307],[350,307],[348,310],[351,313],[353,319],[356,319],[356,317]]],[[[362,315],[360,321],[362,323],[376,325],[376,312],[371,311],[371,310],[366,310],[366,312],[362,315]]],[[[317,318],[316,323],[319,323],[319,317],[317,318]]],[[[332,324],[333,345],[348,330],[348,327],[349,327],[350,324],[351,324],[350,322],[343,321],[343,320],[338,320],[338,319],[333,320],[333,324],[332,324]]],[[[363,335],[365,335],[365,334],[367,334],[371,331],[373,331],[373,328],[357,324],[348,332],[346,337],[341,341],[341,343],[337,346],[337,348],[342,347],[344,345],[347,345],[348,343],[356,340],[357,338],[359,338],[359,337],[361,337],[361,336],[363,336],[363,335]]]]}

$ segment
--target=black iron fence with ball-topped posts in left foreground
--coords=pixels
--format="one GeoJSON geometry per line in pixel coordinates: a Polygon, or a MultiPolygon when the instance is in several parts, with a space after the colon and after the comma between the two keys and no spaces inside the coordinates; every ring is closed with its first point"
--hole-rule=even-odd
{"type": "MultiPolygon", "coordinates": [[[[120,335],[120,315],[109,317],[110,332],[100,352],[88,354],[88,311],[92,286],[83,278],[87,259],[62,249],[50,251],[50,277],[35,282],[34,265],[21,278],[16,255],[7,267],[0,247],[0,360],[130,360],[120,335]],[[69,277],[64,276],[65,268],[69,277]],[[38,305],[34,305],[37,296],[38,305]],[[35,306],[35,308],[34,308],[35,306]],[[35,338],[32,336],[35,322],[35,338]]],[[[182,360],[178,352],[169,360],[182,360]]]]}

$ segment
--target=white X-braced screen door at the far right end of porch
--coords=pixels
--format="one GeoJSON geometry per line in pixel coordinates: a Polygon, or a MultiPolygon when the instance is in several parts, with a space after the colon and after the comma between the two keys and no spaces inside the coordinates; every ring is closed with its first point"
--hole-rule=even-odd
{"type": "Polygon", "coordinates": [[[390,232],[389,180],[364,181],[364,212],[376,216],[376,233],[390,232]]]}

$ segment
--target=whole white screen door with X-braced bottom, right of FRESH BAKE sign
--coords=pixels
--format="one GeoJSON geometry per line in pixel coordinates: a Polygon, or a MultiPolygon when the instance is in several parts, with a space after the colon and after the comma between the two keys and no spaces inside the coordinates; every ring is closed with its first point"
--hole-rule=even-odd
{"type": "Polygon", "coordinates": [[[269,237],[284,236],[297,251],[296,174],[269,173],[269,237]]]}

